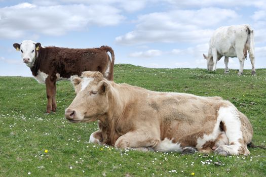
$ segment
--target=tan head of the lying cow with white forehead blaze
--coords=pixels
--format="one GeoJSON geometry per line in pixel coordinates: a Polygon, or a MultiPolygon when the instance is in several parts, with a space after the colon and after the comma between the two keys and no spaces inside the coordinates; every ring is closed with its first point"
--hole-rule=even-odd
{"type": "Polygon", "coordinates": [[[95,121],[108,110],[109,83],[100,72],[86,71],[82,78],[71,77],[77,96],[65,110],[71,122],[95,121]]]}

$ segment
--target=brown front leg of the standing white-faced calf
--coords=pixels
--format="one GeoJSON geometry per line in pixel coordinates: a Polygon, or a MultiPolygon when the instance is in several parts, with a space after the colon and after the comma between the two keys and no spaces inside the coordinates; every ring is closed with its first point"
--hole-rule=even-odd
{"type": "Polygon", "coordinates": [[[55,94],[56,94],[56,85],[55,80],[51,79],[51,77],[47,77],[45,80],[46,84],[46,95],[47,95],[47,108],[46,113],[51,113],[56,109],[56,101],[55,101],[55,94]]]}

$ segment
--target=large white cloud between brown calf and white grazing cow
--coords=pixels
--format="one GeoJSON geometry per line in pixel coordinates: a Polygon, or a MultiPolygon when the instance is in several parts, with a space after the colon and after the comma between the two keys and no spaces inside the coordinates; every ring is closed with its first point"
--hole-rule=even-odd
{"type": "Polygon", "coordinates": [[[150,13],[139,16],[136,29],[116,37],[116,42],[120,45],[150,42],[202,43],[207,42],[213,32],[208,28],[238,18],[235,11],[219,8],[150,13]]]}

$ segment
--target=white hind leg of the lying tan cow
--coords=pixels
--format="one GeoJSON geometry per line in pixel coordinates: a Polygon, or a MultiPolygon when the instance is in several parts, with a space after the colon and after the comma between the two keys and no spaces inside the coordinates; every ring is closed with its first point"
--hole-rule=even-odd
{"type": "Polygon", "coordinates": [[[219,155],[247,155],[250,153],[243,140],[243,133],[245,132],[242,132],[241,130],[242,124],[239,117],[240,114],[233,106],[221,107],[219,109],[217,120],[221,120],[223,122],[224,131],[226,137],[228,138],[228,145],[221,144],[216,149],[214,148],[215,152],[219,155]]]}

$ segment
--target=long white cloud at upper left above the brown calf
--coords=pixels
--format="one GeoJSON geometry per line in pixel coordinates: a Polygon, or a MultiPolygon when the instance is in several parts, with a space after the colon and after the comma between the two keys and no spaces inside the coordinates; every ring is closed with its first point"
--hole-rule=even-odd
{"type": "Polygon", "coordinates": [[[22,3],[0,9],[0,38],[32,34],[63,35],[92,25],[117,25],[125,19],[120,10],[105,5],[36,6],[22,3]]]}

